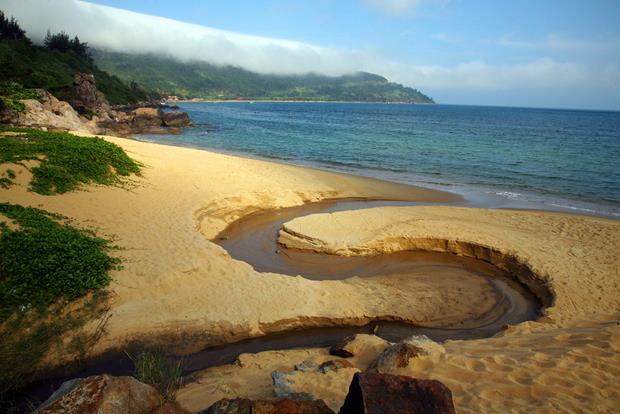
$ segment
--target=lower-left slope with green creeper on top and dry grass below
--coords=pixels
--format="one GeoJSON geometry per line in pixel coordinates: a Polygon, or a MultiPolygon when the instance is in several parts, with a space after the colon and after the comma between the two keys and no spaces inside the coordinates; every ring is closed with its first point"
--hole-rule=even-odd
{"type": "Polygon", "coordinates": [[[54,347],[83,358],[103,332],[86,321],[105,312],[109,242],[63,217],[0,204],[0,410],[6,393],[30,382],[54,347]]]}

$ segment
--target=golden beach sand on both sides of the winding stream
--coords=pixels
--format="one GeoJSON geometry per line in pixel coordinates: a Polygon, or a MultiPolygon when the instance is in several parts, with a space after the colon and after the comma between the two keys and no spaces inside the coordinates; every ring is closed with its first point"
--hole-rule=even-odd
{"type": "MultiPolygon", "coordinates": [[[[422,288],[406,279],[395,284],[260,274],[210,241],[237,218],[264,209],[339,197],[455,202],[456,196],[207,151],[106,139],[145,165],[131,186],[89,186],[40,196],[27,191],[29,173],[24,169],[17,171],[20,185],[0,189],[0,201],[69,216],[123,247],[124,267],[112,273],[112,317],[95,352],[136,339],[177,340],[178,352],[190,352],[291,327],[362,324],[385,315],[440,324],[450,316],[435,314],[443,305],[473,312],[472,298],[484,296],[484,286],[458,292],[450,291],[450,284],[422,288]]],[[[410,375],[444,381],[459,412],[610,412],[620,404],[618,222],[558,213],[398,207],[311,216],[286,228],[289,243],[330,253],[424,247],[493,258],[518,270],[550,305],[540,321],[491,339],[450,341],[440,361],[407,368],[410,375]]],[[[306,357],[328,358],[321,349],[275,355],[261,353],[251,357],[252,364],[207,370],[199,374],[200,383],[181,391],[179,400],[198,410],[220,395],[268,398],[275,365],[292,369],[306,357]],[[218,381],[226,392],[211,392],[218,381]]],[[[357,367],[363,369],[367,359],[355,362],[357,367]]],[[[333,407],[344,397],[347,376],[354,371],[330,378],[327,388],[323,384],[333,407]]],[[[317,381],[307,386],[313,383],[317,381]]]]}

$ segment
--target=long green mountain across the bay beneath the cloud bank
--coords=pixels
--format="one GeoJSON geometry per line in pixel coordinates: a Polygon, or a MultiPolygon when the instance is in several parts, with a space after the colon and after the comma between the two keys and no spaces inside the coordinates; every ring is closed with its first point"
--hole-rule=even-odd
{"type": "Polygon", "coordinates": [[[416,89],[366,72],[344,76],[266,75],[150,54],[103,50],[92,50],[91,54],[97,66],[126,82],[182,98],[433,103],[416,89]]]}

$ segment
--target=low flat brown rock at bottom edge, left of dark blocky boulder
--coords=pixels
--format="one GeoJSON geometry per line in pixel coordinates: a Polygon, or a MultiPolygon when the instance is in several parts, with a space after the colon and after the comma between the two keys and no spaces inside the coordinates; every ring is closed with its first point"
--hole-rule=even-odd
{"type": "Polygon", "coordinates": [[[323,400],[252,401],[245,398],[220,400],[202,414],[334,414],[323,400]]]}

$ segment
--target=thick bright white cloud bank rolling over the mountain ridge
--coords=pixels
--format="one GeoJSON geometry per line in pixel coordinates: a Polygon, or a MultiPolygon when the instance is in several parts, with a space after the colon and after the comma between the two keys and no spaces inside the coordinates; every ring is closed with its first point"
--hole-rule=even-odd
{"type": "Polygon", "coordinates": [[[41,41],[47,29],[64,30],[96,48],[166,54],[261,73],[338,75],[359,70],[366,58],[356,51],[229,32],[79,0],[3,0],[2,8],[35,41],[41,41]]]}

